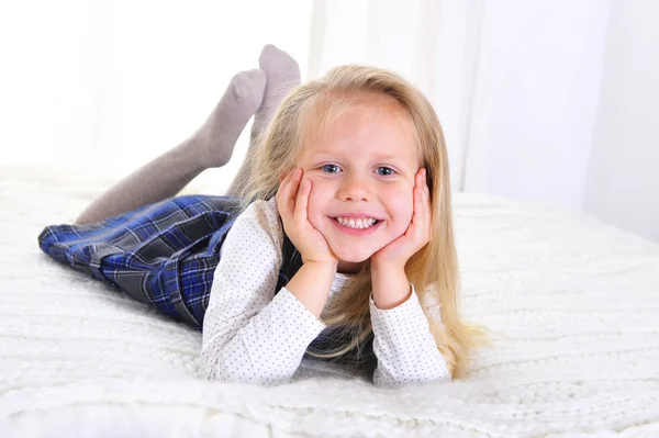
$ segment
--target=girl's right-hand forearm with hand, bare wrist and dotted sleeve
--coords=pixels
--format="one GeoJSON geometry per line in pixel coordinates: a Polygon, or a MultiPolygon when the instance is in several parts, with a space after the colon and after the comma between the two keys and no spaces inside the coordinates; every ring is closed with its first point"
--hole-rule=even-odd
{"type": "Polygon", "coordinates": [[[378,358],[373,383],[379,386],[451,378],[405,274],[406,261],[429,242],[432,234],[425,169],[420,169],[415,178],[410,226],[404,235],[371,257],[370,312],[373,351],[378,358]]]}

